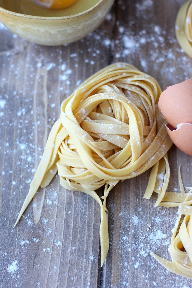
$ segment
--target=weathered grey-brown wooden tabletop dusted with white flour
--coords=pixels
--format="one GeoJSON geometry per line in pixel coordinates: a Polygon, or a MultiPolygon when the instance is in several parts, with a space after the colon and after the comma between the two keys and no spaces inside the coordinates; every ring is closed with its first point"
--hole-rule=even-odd
{"type": "MultiPolygon", "coordinates": [[[[191,280],[167,272],[150,255],[153,251],[171,260],[168,247],[177,217],[177,208],[154,208],[156,195],[143,198],[150,171],[118,183],[109,194],[110,248],[102,268],[100,207],[86,194],[66,191],[58,176],[37,193],[12,229],[60,104],[83,80],[118,61],[152,75],[163,90],[191,78],[191,58],[174,33],[184,2],[115,1],[96,31],[58,47],[27,42],[0,24],[1,287],[192,286],[191,280]],[[33,211],[41,214],[37,224],[33,211]]],[[[184,185],[191,186],[192,157],[175,146],[168,156],[168,191],[179,189],[180,164],[184,185]]]]}

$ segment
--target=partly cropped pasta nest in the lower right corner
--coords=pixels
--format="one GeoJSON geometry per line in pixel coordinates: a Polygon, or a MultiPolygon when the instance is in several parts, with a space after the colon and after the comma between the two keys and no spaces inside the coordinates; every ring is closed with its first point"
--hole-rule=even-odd
{"type": "Polygon", "coordinates": [[[178,219],[173,230],[170,255],[172,262],[163,259],[153,252],[151,255],[167,270],[178,275],[192,279],[192,188],[187,187],[189,192],[186,194],[180,175],[180,193],[166,192],[163,202],[160,205],[165,207],[178,206],[178,219]]]}

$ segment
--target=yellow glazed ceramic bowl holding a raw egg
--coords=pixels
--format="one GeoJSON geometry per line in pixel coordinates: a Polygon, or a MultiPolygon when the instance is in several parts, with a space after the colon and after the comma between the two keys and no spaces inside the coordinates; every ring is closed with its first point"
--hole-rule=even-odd
{"type": "Polygon", "coordinates": [[[30,0],[0,0],[0,21],[13,33],[41,45],[62,45],[82,39],[104,20],[114,0],[77,0],[61,10],[30,0]]]}

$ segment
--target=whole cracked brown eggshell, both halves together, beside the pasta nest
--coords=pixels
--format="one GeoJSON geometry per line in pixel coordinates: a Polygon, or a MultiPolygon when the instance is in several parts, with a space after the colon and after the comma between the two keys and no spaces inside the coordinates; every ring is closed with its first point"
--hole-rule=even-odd
{"type": "Polygon", "coordinates": [[[168,122],[166,129],[173,143],[192,156],[192,79],[164,90],[158,107],[168,122]]]}

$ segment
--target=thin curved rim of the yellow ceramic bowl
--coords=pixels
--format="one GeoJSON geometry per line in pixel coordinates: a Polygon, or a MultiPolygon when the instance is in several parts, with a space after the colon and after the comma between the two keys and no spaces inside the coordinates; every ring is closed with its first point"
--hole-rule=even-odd
{"type": "MultiPolygon", "coordinates": [[[[88,12],[94,10],[97,6],[101,5],[102,2],[104,1],[107,1],[107,0],[99,0],[98,3],[96,3],[94,6],[92,6],[91,8],[81,12],[81,13],[77,13],[77,14],[72,14],[72,15],[69,15],[69,16],[55,16],[55,17],[52,17],[52,16],[34,16],[34,15],[28,15],[28,14],[22,14],[22,13],[17,13],[17,12],[13,12],[13,11],[10,11],[10,10],[7,10],[3,7],[0,6],[0,11],[2,12],[5,12],[7,14],[11,14],[13,16],[18,16],[18,17],[22,17],[22,18],[27,18],[27,19],[35,19],[35,20],[67,20],[67,19],[72,19],[72,18],[77,18],[79,16],[82,16],[82,15],[85,15],[87,14],[88,12]]],[[[114,0],[111,0],[112,2],[114,0]]]]}

